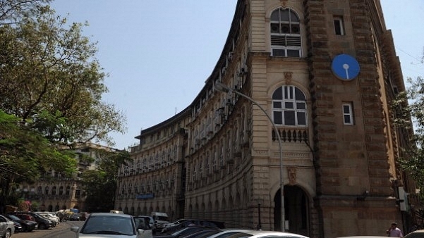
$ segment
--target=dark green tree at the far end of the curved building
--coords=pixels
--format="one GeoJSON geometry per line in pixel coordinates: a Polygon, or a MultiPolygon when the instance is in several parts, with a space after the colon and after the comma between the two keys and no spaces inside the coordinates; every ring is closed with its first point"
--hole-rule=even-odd
{"type": "Polygon", "coordinates": [[[83,189],[86,192],[85,210],[107,212],[113,210],[121,165],[131,161],[128,151],[97,150],[97,170],[83,172],[83,189]]]}

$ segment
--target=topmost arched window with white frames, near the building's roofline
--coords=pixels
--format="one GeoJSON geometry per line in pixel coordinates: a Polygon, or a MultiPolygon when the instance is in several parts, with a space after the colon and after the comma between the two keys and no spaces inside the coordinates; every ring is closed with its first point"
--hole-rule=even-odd
{"type": "Polygon", "coordinates": [[[278,8],[271,14],[272,56],[301,57],[301,23],[290,8],[278,8]]]}

